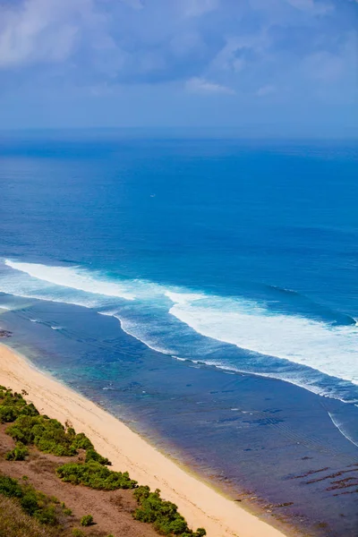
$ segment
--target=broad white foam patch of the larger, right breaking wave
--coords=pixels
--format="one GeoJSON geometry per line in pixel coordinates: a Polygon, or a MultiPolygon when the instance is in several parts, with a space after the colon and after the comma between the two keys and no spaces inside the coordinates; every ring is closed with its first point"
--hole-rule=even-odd
{"type": "MultiPolygon", "coordinates": [[[[185,294],[175,300],[170,313],[203,336],[299,363],[358,385],[356,326],[335,327],[299,316],[274,314],[258,303],[218,296],[191,301],[185,294]]],[[[240,363],[237,366],[240,369],[240,363]]]]}

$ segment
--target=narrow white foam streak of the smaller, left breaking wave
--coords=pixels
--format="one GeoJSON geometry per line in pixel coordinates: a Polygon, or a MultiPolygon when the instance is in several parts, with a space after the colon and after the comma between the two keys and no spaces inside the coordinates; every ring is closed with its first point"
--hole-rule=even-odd
{"type": "Polygon", "coordinates": [[[91,294],[102,294],[125,300],[134,300],[134,296],[126,292],[121,284],[102,279],[99,275],[90,275],[86,270],[79,267],[47,267],[36,263],[18,263],[5,260],[5,265],[15,270],[20,270],[30,277],[36,277],[55,286],[71,287],[78,291],[91,294]]]}

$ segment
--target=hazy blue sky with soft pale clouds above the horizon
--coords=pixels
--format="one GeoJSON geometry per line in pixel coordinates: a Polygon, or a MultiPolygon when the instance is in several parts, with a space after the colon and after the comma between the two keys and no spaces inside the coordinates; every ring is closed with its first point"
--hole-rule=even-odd
{"type": "Polygon", "coordinates": [[[358,136],[358,0],[0,0],[0,129],[358,136]]]}

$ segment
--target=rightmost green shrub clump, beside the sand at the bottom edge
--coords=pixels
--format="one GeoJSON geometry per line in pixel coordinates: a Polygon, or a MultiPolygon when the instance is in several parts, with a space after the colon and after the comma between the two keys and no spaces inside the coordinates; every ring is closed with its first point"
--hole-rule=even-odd
{"type": "Polygon", "coordinates": [[[160,490],[150,492],[149,487],[141,486],[134,490],[134,497],[140,505],[133,513],[134,518],[153,524],[158,533],[180,537],[203,537],[207,534],[202,528],[192,532],[183,516],[178,513],[178,507],[171,501],[160,498],[160,490]]]}

